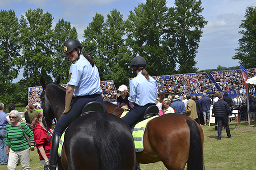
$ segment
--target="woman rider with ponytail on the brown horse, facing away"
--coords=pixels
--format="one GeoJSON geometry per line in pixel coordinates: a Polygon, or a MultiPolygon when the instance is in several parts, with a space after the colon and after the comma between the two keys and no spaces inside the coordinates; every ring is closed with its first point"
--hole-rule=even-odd
{"type": "Polygon", "coordinates": [[[158,84],[145,70],[146,65],[143,57],[137,56],[131,60],[131,67],[137,76],[130,81],[128,98],[131,103],[135,103],[135,107],[123,118],[129,126],[139,121],[145,110],[155,105],[158,97],[158,84]]]}

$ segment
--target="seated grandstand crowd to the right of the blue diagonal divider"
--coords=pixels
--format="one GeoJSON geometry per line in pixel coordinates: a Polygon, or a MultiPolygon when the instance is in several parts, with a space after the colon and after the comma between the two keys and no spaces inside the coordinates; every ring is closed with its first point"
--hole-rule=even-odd
{"type": "MultiPolygon", "coordinates": [[[[248,78],[256,76],[256,69],[246,69],[248,78]]],[[[215,81],[223,91],[245,89],[241,70],[211,72],[215,81]]]]}

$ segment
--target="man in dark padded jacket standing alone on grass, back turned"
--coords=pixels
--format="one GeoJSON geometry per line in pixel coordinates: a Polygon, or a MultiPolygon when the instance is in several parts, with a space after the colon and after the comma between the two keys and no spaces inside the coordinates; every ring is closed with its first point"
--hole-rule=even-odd
{"type": "Polygon", "coordinates": [[[218,121],[218,140],[221,139],[222,123],[226,127],[228,138],[231,138],[228,125],[229,106],[228,103],[223,100],[223,94],[219,94],[218,98],[219,100],[216,103],[214,103],[213,107],[213,116],[218,121]]]}

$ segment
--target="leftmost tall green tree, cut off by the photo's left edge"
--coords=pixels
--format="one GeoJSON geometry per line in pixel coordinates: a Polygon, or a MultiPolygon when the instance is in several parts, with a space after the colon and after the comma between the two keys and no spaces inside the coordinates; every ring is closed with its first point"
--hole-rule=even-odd
{"type": "Polygon", "coordinates": [[[20,69],[19,22],[14,10],[0,11],[0,102],[14,100],[14,84],[20,69]]]}

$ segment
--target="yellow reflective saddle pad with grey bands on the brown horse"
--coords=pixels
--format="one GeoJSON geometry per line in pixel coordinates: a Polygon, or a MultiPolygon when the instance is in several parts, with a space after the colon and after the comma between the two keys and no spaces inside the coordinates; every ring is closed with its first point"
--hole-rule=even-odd
{"type": "Polygon", "coordinates": [[[153,116],[150,117],[144,121],[141,121],[137,123],[132,131],[132,136],[134,140],[134,145],[135,145],[135,151],[136,152],[142,152],[144,147],[143,147],[143,135],[144,131],[146,128],[146,125],[151,121],[152,119],[159,117],[159,116],[153,116]]]}

